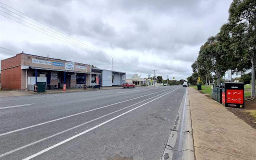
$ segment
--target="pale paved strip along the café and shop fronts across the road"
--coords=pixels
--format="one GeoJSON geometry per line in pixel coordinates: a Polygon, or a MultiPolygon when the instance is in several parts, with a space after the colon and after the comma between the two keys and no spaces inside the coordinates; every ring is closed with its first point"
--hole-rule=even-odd
{"type": "Polygon", "coordinates": [[[101,89],[67,89],[63,91],[63,89],[54,89],[54,90],[46,90],[44,93],[37,93],[34,91],[25,91],[25,90],[1,90],[0,97],[12,97],[12,96],[27,96],[33,94],[53,94],[53,93],[68,93],[68,92],[84,92],[84,91],[92,91],[92,90],[105,90],[105,89],[122,89],[120,86],[113,87],[101,87],[101,89]]]}

